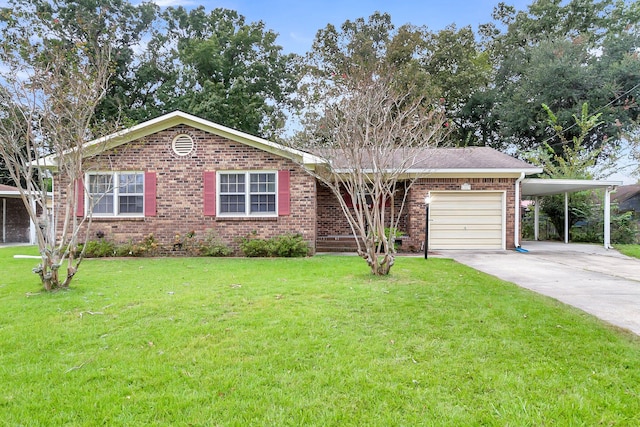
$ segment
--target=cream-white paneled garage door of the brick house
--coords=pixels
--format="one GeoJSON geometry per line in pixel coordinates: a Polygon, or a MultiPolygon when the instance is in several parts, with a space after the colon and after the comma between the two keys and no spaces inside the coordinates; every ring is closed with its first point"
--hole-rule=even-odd
{"type": "Polygon", "coordinates": [[[432,192],[430,249],[504,249],[504,192],[432,192]]]}

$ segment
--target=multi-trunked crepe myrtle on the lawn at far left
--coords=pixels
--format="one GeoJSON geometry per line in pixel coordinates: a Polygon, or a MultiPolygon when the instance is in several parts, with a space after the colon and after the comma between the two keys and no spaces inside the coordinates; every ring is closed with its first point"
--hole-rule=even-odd
{"type": "Polygon", "coordinates": [[[37,225],[41,262],[34,272],[45,290],[66,288],[82,261],[78,244],[88,236],[91,215],[75,215],[77,192],[84,191],[77,183],[94,111],[111,76],[110,44],[90,43],[96,36],[90,33],[61,37],[41,15],[21,9],[2,9],[2,16],[15,19],[0,29],[0,157],[13,181],[22,183],[22,201],[37,225]],[[57,189],[66,197],[54,206],[48,203],[47,159],[67,182],[57,189]]]}

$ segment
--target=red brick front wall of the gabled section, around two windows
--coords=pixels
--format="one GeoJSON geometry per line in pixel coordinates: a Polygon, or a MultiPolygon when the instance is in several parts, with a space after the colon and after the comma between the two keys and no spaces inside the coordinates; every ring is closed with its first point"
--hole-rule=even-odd
{"type": "MultiPolygon", "coordinates": [[[[156,216],[145,218],[93,218],[91,235],[104,233],[116,242],[140,241],[153,233],[165,251],[172,248],[176,234],[195,231],[202,236],[213,230],[237,250],[238,239],[252,234],[269,238],[300,233],[315,247],[316,183],[295,162],[248,145],[231,141],[190,126],[176,126],[106,151],[91,162],[87,171],[143,171],[156,173],[156,216]],[[172,140],[190,135],[194,151],[176,155],[172,140]],[[290,171],[290,214],[273,218],[226,218],[204,215],[204,171],[290,171]]],[[[59,180],[60,181],[60,180],[59,180]]],[[[65,182],[54,188],[63,189],[65,182]]],[[[64,194],[56,197],[64,197],[64,194]]]]}

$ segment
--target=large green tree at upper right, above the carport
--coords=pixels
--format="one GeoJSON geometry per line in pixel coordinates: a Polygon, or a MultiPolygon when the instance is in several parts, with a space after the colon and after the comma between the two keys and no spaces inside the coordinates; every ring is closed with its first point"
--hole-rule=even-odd
{"type": "MultiPolygon", "coordinates": [[[[570,137],[572,114],[588,102],[603,126],[585,148],[620,143],[640,114],[640,4],[616,0],[536,0],[528,11],[504,4],[482,28],[496,70],[493,99],[479,118],[495,127],[491,145],[531,149],[547,138],[547,104],[570,137]],[[490,123],[488,123],[490,121],[490,123]]],[[[555,138],[552,146],[560,148],[555,138]]],[[[560,151],[559,151],[560,152],[560,151]]]]}

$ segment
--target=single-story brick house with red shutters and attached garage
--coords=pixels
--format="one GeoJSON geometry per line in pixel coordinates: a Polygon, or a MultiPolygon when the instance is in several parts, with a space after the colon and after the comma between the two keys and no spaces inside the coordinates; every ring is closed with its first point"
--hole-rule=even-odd
{"type": "MultiPolygon", "coordinates": [[[[115,241],[153,233],[170,247],[176,234],[213,230],[237,248],[247,235],[300,233],[314,250],[331,250],[332,242],[353,239],[335,196],[305,170],[326,167],[325,160],[190,114],[96,139],[85,153],[76,214],[93,205],[93,232],[115,241]]],[[[56,174],[55,158],[45,160],[55,203],[65,197],[65,177],[56,174]]],[[[425,151],[398,212],[402,248],[423,248],[428,194],[430,249],[517,246],[520,182],[539,172],[486,147],[425,151]]]]}

